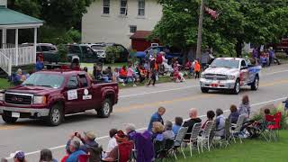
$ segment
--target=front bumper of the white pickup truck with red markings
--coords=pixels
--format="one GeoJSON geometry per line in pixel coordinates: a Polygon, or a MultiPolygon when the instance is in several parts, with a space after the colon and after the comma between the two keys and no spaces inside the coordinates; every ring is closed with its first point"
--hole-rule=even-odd
{"type": "Polygon", "coordinates": [[[235,80],[207,80],[201,78],[200,86],[211,89],[233,89],[235,82],[235,80]]]}

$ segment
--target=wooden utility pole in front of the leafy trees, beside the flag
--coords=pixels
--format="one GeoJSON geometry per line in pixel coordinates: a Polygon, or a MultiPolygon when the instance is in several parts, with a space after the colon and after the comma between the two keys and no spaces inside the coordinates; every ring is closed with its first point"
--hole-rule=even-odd
{"type": "Polygon", "coordinates": [[[203,14],[204,14],[203,10],[204,10],[204,0],[201,0],[199,23],[198,23],[198,34],[197,34],[196,58],[201,58],[202,28],[203,28],[203,14]]]}

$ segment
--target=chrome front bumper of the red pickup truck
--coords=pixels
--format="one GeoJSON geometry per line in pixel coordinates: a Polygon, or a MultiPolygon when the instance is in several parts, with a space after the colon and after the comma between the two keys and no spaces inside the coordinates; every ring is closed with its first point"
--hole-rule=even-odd
{"type": "Polygon", "coordinates": [[[38,117],[41,116],[48,116],[49,109],[42,108],[42,109],[31,109],[31,108],[18,108],[18,107],[6,107],[0,106],[0,113],[6,112],[23,112],[23,113],[30,113],[31,116],[35,116],[37,114],[38,117]]]}

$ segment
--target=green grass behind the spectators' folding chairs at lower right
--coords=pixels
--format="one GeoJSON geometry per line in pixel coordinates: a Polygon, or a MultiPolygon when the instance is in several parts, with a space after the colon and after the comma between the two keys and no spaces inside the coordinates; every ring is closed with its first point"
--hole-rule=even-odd
{"type": "MultiPolygon", "coordinates": [[[[178,161],[200,161],[200,162],[287,162],[288,130],[280,131],[280,141],[266,142],[263,139],[246,139],[244,143],[232,143],[227,148],[212,148],[202,154],[193,151],[193,157],[190,157],[189,151],[186,151],[186,158],[178,161]]],[[[183,157],[183,156],[178,156],[183,157]]]]}

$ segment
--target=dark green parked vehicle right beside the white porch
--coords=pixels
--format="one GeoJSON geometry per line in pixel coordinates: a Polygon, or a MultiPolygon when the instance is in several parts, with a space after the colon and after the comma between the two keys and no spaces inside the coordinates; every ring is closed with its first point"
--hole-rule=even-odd
{"type": "MultiPolygon", "coordinates": [[[[22,47],[33,46],[33,43],[23,43],[22,47]]],[[[36,45],[36,57],[43,57],[44,62],[58,62],[60,56],[58,54],[58,49],[55,45],[51,43],[37,43],[36,45]]]]}

